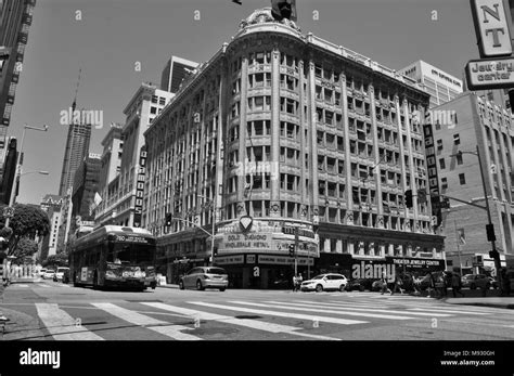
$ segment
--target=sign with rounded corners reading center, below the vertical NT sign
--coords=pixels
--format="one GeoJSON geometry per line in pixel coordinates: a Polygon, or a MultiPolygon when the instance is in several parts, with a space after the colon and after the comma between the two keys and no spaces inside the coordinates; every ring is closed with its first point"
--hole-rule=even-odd
{"type": "Polygon", "coordinates": [[[512,88],[514,86],[514,59],[472,60],[466,65],[470,90],[512,88]]]}

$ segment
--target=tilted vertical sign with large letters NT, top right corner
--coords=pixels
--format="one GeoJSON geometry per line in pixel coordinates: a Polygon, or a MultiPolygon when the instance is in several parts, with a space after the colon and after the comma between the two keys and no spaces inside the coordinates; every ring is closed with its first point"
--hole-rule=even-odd
{"type": "Polygon", "coordinates": [[[480,57],[512,54],[506,0],[471,0],[471,8],[480,57]]]}

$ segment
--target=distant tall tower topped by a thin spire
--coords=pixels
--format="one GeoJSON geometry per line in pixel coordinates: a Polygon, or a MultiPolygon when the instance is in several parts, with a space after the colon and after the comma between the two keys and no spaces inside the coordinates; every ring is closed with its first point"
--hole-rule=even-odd
{"type": "MultiPolygon", "coordinates": [[[[75,107],[74,107],[75,111],[75,107]]],[[[91,139],[91,125],[82,121],[72,121],[68,126],[66,148],[64,151],[63,169],[61,172],[61,184],[59,195],[65,196],[68,187],[73,186],[75,171],[80,163],[89,154],[89,142],[91,139]]]]}

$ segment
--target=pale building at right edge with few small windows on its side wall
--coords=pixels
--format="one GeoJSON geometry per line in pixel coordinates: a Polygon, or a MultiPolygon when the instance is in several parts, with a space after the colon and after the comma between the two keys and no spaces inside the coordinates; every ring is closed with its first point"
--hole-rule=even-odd
{"type": "Polygon", "coordinates": [[[488,218],[477,146],[496,245],[504,260],[505,255],[512,255],[514,245],[514,116],[474,92],[466,92],[433,112],[439,116],[448,114],[453,119],[450,125],[432,125],[434,160],[428,163],[437,169],[440,193],[483,207],[450,199],[450,209],[444,210],[442,234],[449,267],[490,272],[494,263],[488,254],[491,244],[487,239],[488,218]],[[477,256],[481,257],[477,259],[477,256]]]}

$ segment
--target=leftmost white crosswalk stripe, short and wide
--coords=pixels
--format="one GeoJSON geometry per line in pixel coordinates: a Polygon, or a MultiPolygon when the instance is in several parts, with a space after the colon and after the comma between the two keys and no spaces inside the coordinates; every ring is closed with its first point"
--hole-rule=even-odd
{"type": "Polygon", "coordinates": [[[103,340],[102,337],[77,326],[76,321],[57,304],[36,303],[38,315],[55,340],[103,340]]]}

